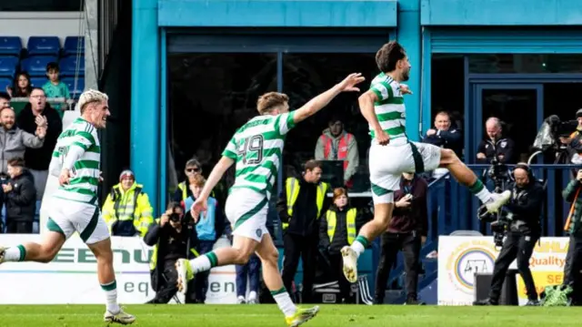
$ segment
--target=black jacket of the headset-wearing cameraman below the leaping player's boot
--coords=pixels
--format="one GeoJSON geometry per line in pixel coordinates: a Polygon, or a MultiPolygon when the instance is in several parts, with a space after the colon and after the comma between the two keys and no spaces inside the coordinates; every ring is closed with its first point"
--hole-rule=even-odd
{"type": "Polygon", "coordinates": [[[544,202],[544,188],[533,176],[525,188],[511,186],[511,199],[505,208],[511,213],[510,229],[524,234],[541,232],[540,218],[544,202]]]}

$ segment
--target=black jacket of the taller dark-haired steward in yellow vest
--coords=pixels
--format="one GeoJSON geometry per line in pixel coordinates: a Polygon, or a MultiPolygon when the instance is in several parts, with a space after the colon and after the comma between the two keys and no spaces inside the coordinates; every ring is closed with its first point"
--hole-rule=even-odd
{"type": "Polygon", "coordinates": [[[279,213],[281,222],[289,223],[289,227],[285,232],[317,237],[319,232],[319,218],[325,215],[327,207],[329,206],[329,200],[326,196],[320,217],[317,217],[317,184],[307,183],[303,177],[298,178],[298,180],[299,194],[293,205],[293,217],[289,217],[287,214],[286,188],[283,188],[283,193],[277,201],[276,210],[279,213]]]}

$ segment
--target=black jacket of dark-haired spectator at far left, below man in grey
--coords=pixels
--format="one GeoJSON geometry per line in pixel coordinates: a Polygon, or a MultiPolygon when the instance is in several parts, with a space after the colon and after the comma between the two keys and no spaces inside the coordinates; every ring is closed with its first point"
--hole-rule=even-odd
{"type": "Polygon", "coordinates": [[[15,179],[10,179],[12,190],[5,193],[6,220],[35,220],[36,189],[35,179],[28,169],[15,179]]]}

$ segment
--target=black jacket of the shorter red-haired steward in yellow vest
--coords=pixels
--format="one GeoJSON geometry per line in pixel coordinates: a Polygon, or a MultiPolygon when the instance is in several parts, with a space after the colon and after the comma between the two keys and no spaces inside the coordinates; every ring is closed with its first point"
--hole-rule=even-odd
{"type": "MultiPolygon", "coordinates": [[[[352,209],[349,205],[343,210],[337,209],[336,205],[329,207],[329,210],[336,212],[336,232],[334,233],[334,238],[329,241],[329,236],[327,235],[327,219],[326,215],[321,217],[319,222],[319,244],[329,253],[339,253],[339,250],[347,244],[347,210],[352,209]]],[[[356,235],[367,222],[366,215],[362,214],[361,210],[357,210],[356,213],[356,235]]]]}

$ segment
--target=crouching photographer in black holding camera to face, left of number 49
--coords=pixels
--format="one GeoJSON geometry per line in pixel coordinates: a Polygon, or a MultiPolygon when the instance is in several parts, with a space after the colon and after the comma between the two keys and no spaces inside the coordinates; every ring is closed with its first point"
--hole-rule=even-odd
{"type": "Polygon", "coordinates": [[[176,295],[176,260],[197,255],[195,222],[178,202],[170,202],[162,217],[149,226],[144,242],[154,247],[150,273],[156,297],[147,303],[167,303],[176,295]]]}

